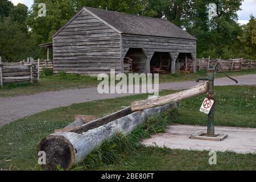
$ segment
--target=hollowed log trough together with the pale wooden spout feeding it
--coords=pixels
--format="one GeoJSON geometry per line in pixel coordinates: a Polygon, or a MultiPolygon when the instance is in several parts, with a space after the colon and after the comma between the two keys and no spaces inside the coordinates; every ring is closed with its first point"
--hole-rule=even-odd
{"type": "Polygon", "coordinates": [[[156,100],[134,102],[131,107],[84,125],[78,118],[69,125],[71,126],[70,130],[67,127],[64,130],[57,130],[61,132],[48,135],[39,143],[37,152],[46,152],[46,165],[43,165],[43,168],[55,170],[57,166],[61,166],[65,170],[69,170],[82,162],[90,152],[100,147],[105,140],[114,137],[118,133],[128,135],[143,122],[146,122],[148,118],[166,110],[177,109],[179,101],[183,98],[191,98],[207,93],[208,89],[207,82],[190,89],[191,92],[187,90],[159,97],[156,100]],[[163,98],[163,100],[160,98],[163,98]],[[172,99],[168,100],[167,98],[172,99]],[[152,102],[156,102],[156,104],[152,104],[152,102]],[[146,109],[137,111],[137,109],[143,107],[146,109]]]}

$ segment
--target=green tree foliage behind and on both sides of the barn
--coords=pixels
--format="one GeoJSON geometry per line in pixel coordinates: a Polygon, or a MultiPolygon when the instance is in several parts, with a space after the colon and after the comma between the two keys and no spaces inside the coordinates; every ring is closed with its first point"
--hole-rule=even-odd
{"type": "Polygon", "coordinates": [[[6,59],[24,59],[26,56],[44,58],[45,50],[38,45],[51,42],[52,35],[61,26],[83,6],[88,6],[170,20],[196,36],[197,57],[256,59],[255,18],[251,16],[250,22],[245,26],[237,23],[237,11],[240,10],[242,1],[34,0],[28,11],[25,5],[14,6],[8,0],[1,0],[0,29],[3,36],[0,38],[0,55],[5,55],[6,59]],[[41,8],[38,7],[39,3],[46,3],[45,17],[38,15],[41,8]],[[216,4],[216,16],[209,16],[210,3],[216,4]],[[16,47],[18,45],[22,45],[22,48],[16,47]]]}

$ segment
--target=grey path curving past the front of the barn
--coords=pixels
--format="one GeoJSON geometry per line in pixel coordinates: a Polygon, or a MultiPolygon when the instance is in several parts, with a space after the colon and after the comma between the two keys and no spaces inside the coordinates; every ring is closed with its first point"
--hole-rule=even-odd
{"type": "MultiPolygon", "coordinates": [[[[256,75],[245,75],[234,78],[239,81],[239,85],[256,85],[256,75]]],[[[160,84],[159,88],[160,90],[180,90],[191,88],[196,84],[195,81],[172,82],[160,84]]],[[[220,86],[236,85],[229,78],[218,78],[215,84],[220,86]]],[[[131,94],[99,94],[97,88],[86,88],[43,92],[31,96],[0,98],[0,127],[16,119],[61,106],[129,95],[131,94]]]]}

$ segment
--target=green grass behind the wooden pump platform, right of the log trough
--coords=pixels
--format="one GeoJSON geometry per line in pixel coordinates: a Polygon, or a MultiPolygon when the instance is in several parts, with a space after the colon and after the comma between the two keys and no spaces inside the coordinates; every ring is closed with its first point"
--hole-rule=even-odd
{"type": "MultiPolygon", "coordinates": [[[[206,126],[207,117],[199,112],[204,98],[200,96],[182,101],[180,116],[174,122],[206,126]]],[[[216,125],[256,127],[256,86],[216,87],[216,100],[216,125]]]]}

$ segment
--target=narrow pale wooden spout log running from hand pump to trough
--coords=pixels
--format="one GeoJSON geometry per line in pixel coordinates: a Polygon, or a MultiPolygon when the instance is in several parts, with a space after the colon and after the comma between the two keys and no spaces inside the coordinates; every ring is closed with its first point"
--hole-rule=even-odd
{"type": "Polygon", "coordinates": [[[181,101],[187,98],[196,97],[201,94],[207,93],[208,91],[209,91],[209,83],[205,82],[203,84],[199,84],[195,86],[194,88],[184,90],[179,93],[169,94],[167,96],[148,99],[144,101],[135,101],[131,104],[131,110],[139,111],[144,109],[150,109],[150,108],[162,106],[168,103],[181,101]]]}

